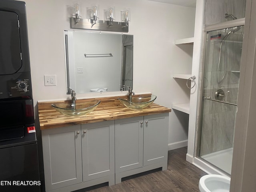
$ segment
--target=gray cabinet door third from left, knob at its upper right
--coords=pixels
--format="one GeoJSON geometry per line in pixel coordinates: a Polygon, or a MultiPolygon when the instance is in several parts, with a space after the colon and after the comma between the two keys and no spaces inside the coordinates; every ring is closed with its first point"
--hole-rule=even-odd
{"type": "Polygon", "coordinates": [[[143,116],[115,120],[116,173],[143,166],[143,116]]]}

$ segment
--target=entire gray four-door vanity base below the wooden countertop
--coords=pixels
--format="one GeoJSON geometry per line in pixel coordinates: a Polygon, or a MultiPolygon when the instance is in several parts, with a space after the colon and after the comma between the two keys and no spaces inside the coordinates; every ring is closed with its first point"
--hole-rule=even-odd
{"type": "Polygon", "coordinates": [[[46,192],[167,169],[169,113],[42,130],[46,192]]]}

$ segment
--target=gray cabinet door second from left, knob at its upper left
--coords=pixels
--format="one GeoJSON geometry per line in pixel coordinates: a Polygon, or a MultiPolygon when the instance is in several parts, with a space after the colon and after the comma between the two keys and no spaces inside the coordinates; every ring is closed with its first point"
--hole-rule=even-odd
{"type": "Polygon", "coordinates": [[[114,174],[114,120],[82,124],[83,181],[114,174]]]}

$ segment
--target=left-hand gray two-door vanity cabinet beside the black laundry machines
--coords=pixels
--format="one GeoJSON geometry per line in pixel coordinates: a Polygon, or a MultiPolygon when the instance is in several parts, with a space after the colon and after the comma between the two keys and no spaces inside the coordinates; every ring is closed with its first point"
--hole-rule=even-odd
{"type": "Polygon", "coordinates": [[[46,191],[114,184],[114,120],[42,130],[46,191]]]}

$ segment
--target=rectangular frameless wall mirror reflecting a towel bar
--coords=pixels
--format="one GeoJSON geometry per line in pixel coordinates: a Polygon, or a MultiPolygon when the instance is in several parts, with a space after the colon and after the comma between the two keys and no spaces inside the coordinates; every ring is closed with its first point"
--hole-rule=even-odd
{"type": "Polygon", "coordinates": [[[132,87],[132,35],[67,30],[64,36],[67,94],[132,87]]]}

